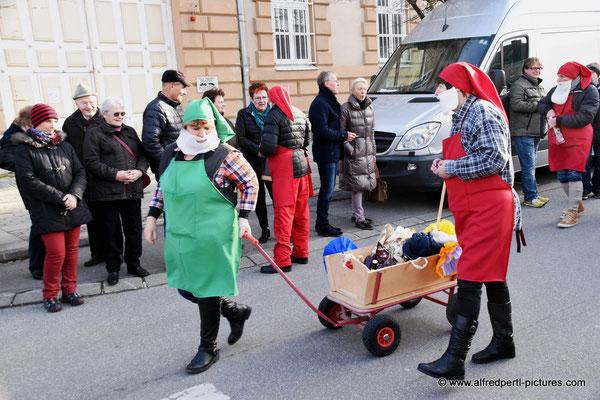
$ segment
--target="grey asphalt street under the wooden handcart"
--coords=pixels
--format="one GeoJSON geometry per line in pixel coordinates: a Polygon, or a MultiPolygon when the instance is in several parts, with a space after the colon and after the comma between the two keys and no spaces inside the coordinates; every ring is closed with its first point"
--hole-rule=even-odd
{"type": "MultiPolygon", "coordinates": [[[[221,359],[199,375],[184,370],[198,345],[198,310],[166,285],[91,297],[54,315],[39,304],[0,309],[0,399],[599,399],[600,200],[585,202],[578,226],[557,229],[566,198],[550,174],[542,180],[551,201],[524,209],[528,246],[520,254],[513,246],[509,267],[517,358],[467,362],[472,385],[487,379],[511,387],[440,386],[416,370],[448,343],[445,310],[435,303],[386,310],[402,339],[395,353],[376,358],[359,328],[325,329],[280,276],[248,267],[236,298],[253,307],[244,336],[227,345],[222,320],[221,359]]],[[[378,227],[386,215],[411,221],[437,212],[427,196],[392,195],[368,205],[378,227]]],[[[333,204],[334,220],[346,226],[348,205],[344,198],[333,204]]],[[[374,242],[354,238],[359,246],[374,242]]],[[[317,305],[329,287],[321,251],[311,251],[310,263],[288,276],[317,305]]],[[[484,300],[472,350],[490,337],[484,300]]]]}

